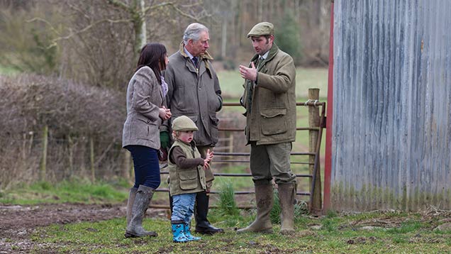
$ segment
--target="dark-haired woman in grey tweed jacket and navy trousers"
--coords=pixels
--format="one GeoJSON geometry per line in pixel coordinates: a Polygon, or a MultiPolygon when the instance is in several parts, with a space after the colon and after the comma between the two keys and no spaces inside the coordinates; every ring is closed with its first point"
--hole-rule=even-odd
{"type": "Polygon", "coordinates": [[[161,71],[166,69],[167,51],[160,43],[143,47],[135,74],[127,87],[127,119],[123,125],[122,145],[130,151],[135,168],[135,185],[130,189],[127,204],[125,236],[157,236],[145,231],[143,216],[160,186],[160,126],[171,117],[163,106],[167,84],[161,71]]]}

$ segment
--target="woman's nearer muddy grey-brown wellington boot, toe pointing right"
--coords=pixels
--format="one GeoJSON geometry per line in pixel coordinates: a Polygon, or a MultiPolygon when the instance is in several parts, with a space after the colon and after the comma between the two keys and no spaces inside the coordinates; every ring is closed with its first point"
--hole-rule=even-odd
{"type": "Polygon", "coordinates": [[[140,185],[136,192],[135,201],[133,202],[132,213],[130,216],[130,223],[127,226],[125,236],[128,237],[143,237],[143,236],[158,236],[154,231],[145,231],[143,228],[143,217],[145,211],[149,208],[150,200],[152,200],[155,189],[140,185]]]}

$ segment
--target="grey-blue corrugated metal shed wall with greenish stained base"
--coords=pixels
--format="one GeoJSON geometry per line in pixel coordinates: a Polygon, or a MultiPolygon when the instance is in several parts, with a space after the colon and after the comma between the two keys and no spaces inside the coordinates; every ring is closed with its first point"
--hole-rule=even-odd
{"type": "Polygon", "coordinates": [[[451,209],[451,1],[335,0],[334,209],[451,209]]]}

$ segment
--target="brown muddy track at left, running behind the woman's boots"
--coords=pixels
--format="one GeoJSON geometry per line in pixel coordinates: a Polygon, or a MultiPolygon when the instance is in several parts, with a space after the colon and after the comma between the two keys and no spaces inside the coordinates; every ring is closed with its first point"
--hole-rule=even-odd
{"type": "MultiPolygon", "coordinates": [[[[147,216],[162,216],[164,209],[149,209],[147,216]]],[[[30,253],[39,248],[30,240],[36,228],[53,223],[101,221],[126,216],[126,204],[0,205],[0,253],[30,253]]]]}

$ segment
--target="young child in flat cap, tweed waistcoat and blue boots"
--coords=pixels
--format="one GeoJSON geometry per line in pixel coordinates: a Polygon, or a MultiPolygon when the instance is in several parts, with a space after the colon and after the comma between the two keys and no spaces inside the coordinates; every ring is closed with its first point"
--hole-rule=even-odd
{"type": "Polygon", "coordinates": [[[194,143],[194,131],[198,128],[187,116],[179,116],[172,121],[174,144],[169,149],[169,193],[173,200],[171,227],[174,243],[198,241],[201,238],[191,235],[189,228],[194,212],[196,193],[206,190],[204,169],[210,167],[208,162],[213,152],[207,150],[206,158],[201,158],[194,143]]]}

